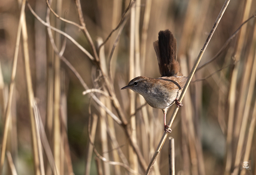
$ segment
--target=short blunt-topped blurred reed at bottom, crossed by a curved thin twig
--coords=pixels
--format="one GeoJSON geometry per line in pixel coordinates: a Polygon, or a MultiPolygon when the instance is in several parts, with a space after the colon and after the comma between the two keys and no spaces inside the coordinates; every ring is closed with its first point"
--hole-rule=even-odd
{"type": "MultiPolygon", "coordinates": [[[[90,133],[92,136],[91,138],[92,138],[93,143],[95,141],[97,121],[98,121],[98,116],[96,114],[93,114],[92,115],[92,124],[91,124],[91,133],[90,133]]],[[[92,146],[91,142],[88,142],[87,153],[86,153],[86,168],[85,168],[84,175],[90,175],[92,152],[93,152],[93,146],[92,146]]]]}

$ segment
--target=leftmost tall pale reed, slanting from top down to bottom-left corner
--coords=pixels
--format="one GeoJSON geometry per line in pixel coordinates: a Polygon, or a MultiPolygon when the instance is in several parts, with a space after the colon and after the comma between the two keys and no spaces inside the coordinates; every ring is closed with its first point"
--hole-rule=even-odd
{"type": "Polygon", "coordinates": [[[11,82],[10,82],[10,87],[9,87],[9,97],[8,97],[7,106],[6,106],[5,112],[4,112],[5,124],[4,124],[2,149],[1,149],[0,174],[2,174],[4,159],[5,159],[5,150],[6,150],[6,142],[7,142],[7,135],[8,135],[8,127],[9,127],[9,122],[10,122],[10,110],[11,110],[11,105],[12,105],[13,91],[14,91],[14,80],[15,80],[15,77],[16,77],[16,70],[17,70],[19,41],[20,41],[20,38],[21,38],[22,23],[23,23],[23,20],[25,18],[25,11],[24,11],[25,10],[25,5],[26,5],[26,0],[23,0],[22,4],[21,4],[21,12],[20,12],[20,15],[19,15],[19,24],[18,24],[17,37],[16,37],[16,47],[15,47],[15,51],[14,51],[13,65],[12,65],[12,76],[11,76],[11,82]]]}

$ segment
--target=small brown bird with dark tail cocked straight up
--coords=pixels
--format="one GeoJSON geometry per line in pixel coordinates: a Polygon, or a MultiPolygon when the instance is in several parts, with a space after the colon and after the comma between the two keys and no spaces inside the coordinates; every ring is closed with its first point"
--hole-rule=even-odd
{"type": "Polygon", "coordinates": [[[131,89],[142,95],[147,103],[164,112],[164,130],[172,132],[166,125],[166,112],[174,103],[183,106],[178,98],[185,86],[187,77],[179,72],[177,59],[177,41],[173,34],[166,29],[158,34],[158,41],[153,43],[159,65],[160,78],[136,77],[122,89],[131,89]]]}

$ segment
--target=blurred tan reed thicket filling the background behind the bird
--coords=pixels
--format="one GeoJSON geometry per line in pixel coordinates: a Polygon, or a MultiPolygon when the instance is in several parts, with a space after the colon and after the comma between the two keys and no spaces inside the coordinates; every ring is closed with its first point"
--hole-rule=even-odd
{"type": "MultiPolygon", "coordinates": [[[[0,1],[0,173],[144,174],[164,117],[120,89],[160,77],[153,41],[165,29],[187,76],[224,0],[49,0],[76,26],[46,1],[28,2],[45,24],[25,0],[0,1]]],[[[199,68],[215,59],[196,72],[169,134],[177,175],[256,175],[255,9],[231,1],[204,53],[199,68]],[[252,170],[240,170],[248,160],[252,170]]],[[[166,142],[151,174],[167,175],[168,164],[166,142]]]]}

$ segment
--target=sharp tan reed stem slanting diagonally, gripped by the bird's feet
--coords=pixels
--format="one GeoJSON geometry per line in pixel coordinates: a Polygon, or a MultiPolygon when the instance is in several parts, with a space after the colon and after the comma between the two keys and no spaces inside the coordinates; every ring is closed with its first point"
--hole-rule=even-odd
{"type": "MultiPolygon", "coordinates": [[[[179,102],[182,101],[182,99],[183,99],[183,97],[184,97],[184,95],[185,95],[185,92],[187,91],[188,85],[189,85],[190,82],[191,82],[191,79],[192,79],[192,77],[193,77],[193,75],[194,75],[194,73],[195,73],[195,70],[196,70],[196,68],[197,68],[197,66],[198,66],[198,64],[199,64],[199,62],[200,62],[200,60],[201,60],[201,57],[203,56],[203,53],[204,53],[204,51],[205,51],[205,49],[206,49],[206,47],[207,47],[209,41],[211,40],[212,35],[213,35],[215,29],[217,28],[218,23],[220,22],[221,17],[222,17],[222,15],[224,14],[224,12],[225,12],[225,10],[226,10],[226,8],[227,8],[227,5],[229,4],[229,1],[230,1],[230,0],[226,0],[225,3],[224,3],[224,5],[222,6],[222,9],[221,9],[221,11],[220,11],[220,14],[218,15],[218,17],[217,17],[217,19],[216,19],[216,22],[214,23],[213,28],[212,28],[211,32],[209,33],[209,36],[207,37],[207,40],[205,41],[205,44],[204,44],[203,48],[201,49],[201,51],[200,51],[200,53],[199,53],[199,55],[198,55],[198,57],[197,57],[197,59],[196,59],[196,62],[195,62],[194,66],[193,66],[193,68],[192,68],[192,70],[191,70],[191,72],[190,72],[190,75],[188,76],[188,80],[187,80],[187,82],[186,82],[186,84],[185,84],[185,86],[184,86],[184,88],[183,88],[183,91],[182,91],[182,93],[181,93],[181,96],[179,97],[179,102]]],[[[172,114],[172,116],[171,116],[171,119],[170,119],[169,122],[168,122],[168,125],[169,125],[170,127],[171,127],[172,124],[173,124],[173,121],[174,121],[174,118],[175,118],[175,116],[176,116],[176,114],[177,114],[177,112],[178,112],[178,109],[179,109],[179,107],[175,106],[175,109],[174,109],[174,111],[173,111],[173,114],[172,114]]],[[[155,152],[155,154],[153,155],[153,157],[152,157],[152,159],[151,159],[151,162],[150,162],[150,164],[149,164],[149,166],[148,166],[148,169],[147,169],[145,175],[148,175],[149,172],[151,171],[151,169],[152,169],[152,167],[153,167],[153,165],[154,165],[154,162],[156,161],[156,158],[157,158],[157,156],[159,155],[159,152],[160,152],[160,150],[161,150],[161,148],[162,148],[162,145],[163,145],[164,142],[165,142],[165,139],[166,139],[167,135],[168,135],[168,133],[164,132],[164,134],[163,134],[163,136],[162,136],[162,138],[161,138],[161,140],[160,140],[160,143],[159,143],[159,145],[157,146],[156,152],[155,152]]]]}

